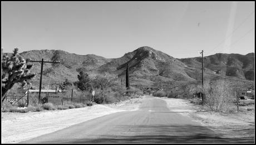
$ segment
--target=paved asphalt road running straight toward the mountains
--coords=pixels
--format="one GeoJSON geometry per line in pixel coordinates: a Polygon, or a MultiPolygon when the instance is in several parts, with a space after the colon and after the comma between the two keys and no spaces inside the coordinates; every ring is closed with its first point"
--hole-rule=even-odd
{"type": "MultiPolygon", "coordinates": [[[[113,113],[20,143],[243,143],[221,138],[166,102],[146,98],[138,111],[113,113]]],[[[252,142],[250,140],[249,142],[252,142]]]]}

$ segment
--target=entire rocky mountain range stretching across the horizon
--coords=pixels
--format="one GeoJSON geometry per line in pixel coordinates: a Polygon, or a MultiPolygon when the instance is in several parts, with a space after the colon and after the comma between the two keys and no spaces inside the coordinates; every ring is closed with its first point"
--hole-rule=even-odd
{"type": "MultiPolygon", "coordinates": [[[[188,81],[201,81],[201,59],[176,59],[151,47],[140,47],[120,58],[104,58],[94,54],[78,55],[61,50],[34,50],[19,53],[24,58],[40,61],[60,61],[60,64],[46,63],[43,66],[42,88],[53,89],[68,79],[77,81],[77,74],[85,71],[89,76],[106,72],[115,74],[125,82],[126,64],[129,64],[130,84],[134,87],[149,88],[165,83],[180,86],[188,81]]],[[[41,64],[35,64],[31,71],[37,76],[31,80],[32,86],[39,87],[41,64]]],[[[204,79],[235,79],[252,83],[254,81],[254,53],[222,54],[208,56],[204,61],[204,79]]],[[[125,85],[125,83],[123,83],[125,85]]],[[[13,90],[17,89],[17,85],[13,90]]],[[[14,91],[15,92],[15,91],[14,91]]]]}

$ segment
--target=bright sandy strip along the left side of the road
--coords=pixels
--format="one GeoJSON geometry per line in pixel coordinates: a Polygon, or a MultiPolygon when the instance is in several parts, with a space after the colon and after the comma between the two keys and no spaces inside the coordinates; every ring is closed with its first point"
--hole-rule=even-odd
{"type": "Polygon", "coordinates": [[[135,111],[139,108],[141,99],[143,98],[66,110],[28,113],[2,112],[1,143],[18,143],[107,114],[135,111]]]}

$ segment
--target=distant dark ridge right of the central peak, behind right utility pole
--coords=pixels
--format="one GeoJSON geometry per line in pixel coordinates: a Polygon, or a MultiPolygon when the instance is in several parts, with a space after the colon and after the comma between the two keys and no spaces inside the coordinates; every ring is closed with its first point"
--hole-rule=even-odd
{"type": "MultiPolygon", "coordinates": [[[[216,53],[204,59],[205,68],[221,76],[230,76],[254,81],[254,53],[247,55],[216,53]]],[[[201,67],[201,59],[184,58],[181,62],[194,68],[201,67]]]]}

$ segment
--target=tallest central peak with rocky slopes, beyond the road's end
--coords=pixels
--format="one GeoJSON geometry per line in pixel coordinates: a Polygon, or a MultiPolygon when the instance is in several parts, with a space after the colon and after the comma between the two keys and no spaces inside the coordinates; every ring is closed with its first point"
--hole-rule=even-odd
{"type": "Polygon", "coordinates": [[[107,71],[117,74],[119,77],[125,77],[127,63],[130,77],[138,79],[139,82],[144,79],[153,82],[155,79],[159,81],[193,79],[186,74],[183,69],[185,65],[178,59],[150,47],[140,47],[133,52],[126,53],[123,57],[116,58],[99,67],[99,72],[107,71]]]}

